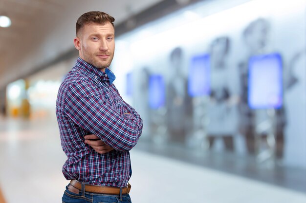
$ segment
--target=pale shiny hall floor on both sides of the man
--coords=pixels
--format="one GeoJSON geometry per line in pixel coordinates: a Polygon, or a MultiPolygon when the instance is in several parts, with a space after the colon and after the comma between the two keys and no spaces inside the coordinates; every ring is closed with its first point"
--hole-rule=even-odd
{"type": "MultiPolygon", "coordinates": [[[[144,150],[131,150],[133,203],[305,203],[306,193],[144,150]]],[[[6,203],[61,203],[68,181],[56,121],[0,118],[0,189],[6,203]]],[[[1,199],[0,199],[1,203],[1,199]]]]}

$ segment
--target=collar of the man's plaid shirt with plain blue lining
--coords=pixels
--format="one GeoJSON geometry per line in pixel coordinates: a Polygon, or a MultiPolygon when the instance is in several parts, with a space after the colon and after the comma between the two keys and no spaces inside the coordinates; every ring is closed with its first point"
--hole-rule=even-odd
{"type": "Polygon", "coordinates": [[[115,74],[113,74],[109,68],[105,69],[105,72],[101,71],[100,69],[96,68],[95,66],[91,65],[90,63],[87,63],[82,58],[78,57],[78,60],[76,62],[76,67],[81,68],[82,71],[84,71],[89,77],[92,78],[100,78],[101,80],[108,81],[109,84],[112,84],[112,82],[116,79],[115,74]]]}

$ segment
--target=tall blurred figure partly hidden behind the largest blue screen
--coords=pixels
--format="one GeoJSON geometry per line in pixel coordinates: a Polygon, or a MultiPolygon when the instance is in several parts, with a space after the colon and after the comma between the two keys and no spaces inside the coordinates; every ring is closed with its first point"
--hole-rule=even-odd
{"type": "MultiPolygon", "coordinates": [[[[240,133],[245,136],[246,147],[250,154],[257,152],[256,144],[256,126],[260,122],[264,122],[267,115],[252,110],[248,105],[248,60],[253,55],[268,54],[266,51],[268,45],[268,34],[270,31],[270,23],[264,19],[259,18],[252,21],[243,31],[243,39],[248,49],[248,54],[245,59],[239,64],[240,72],[240,133]],[[261,120],[260,120],[261,119],[261,120]]],[[[266,114],[266,112],[265,112],[266,114]]],[[[275,138],[276,148],[275,155],[277,158],[283,157],[284,148],[284,126],[285,114],[284,108],[275,109],[276,127],[275,138]]],[[[265,132],[261,132],[259,136],[266,138],[265,132]]]]}

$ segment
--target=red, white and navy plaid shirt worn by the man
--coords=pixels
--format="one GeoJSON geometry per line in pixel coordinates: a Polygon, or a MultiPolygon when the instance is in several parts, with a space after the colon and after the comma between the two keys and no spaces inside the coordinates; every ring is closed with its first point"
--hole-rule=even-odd
{"type": "Polygon", "coordinates": [[[56,115],[68,158],[63,166],[67,180],[125,187],[130,179],[129,150],[139,139],[142,120],[123,101],[114,79],[109,69],[102,72],[79,57],[61,84],[56,115]],[[97,153],[84,142],[88,134],[97,135],[114,150],[97,153]]]}

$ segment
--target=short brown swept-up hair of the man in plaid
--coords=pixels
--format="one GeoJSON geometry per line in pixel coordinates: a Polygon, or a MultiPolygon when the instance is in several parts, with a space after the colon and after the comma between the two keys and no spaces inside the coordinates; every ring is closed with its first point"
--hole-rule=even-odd
{"type": "Polygon", "coordinates": [[[101,12],[101,11],[89,11],[77,20],[75,30],[76,35],[78,36],[79,30],[84,27],[84,25],[88,23],[99,23],[99,24],[105,24],[106,22],[110,22],[112,26],[114,27],[113,22],[115,21],[115,18],[110,16],[107,13],[101,12]]]}

